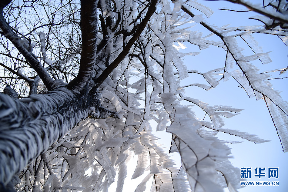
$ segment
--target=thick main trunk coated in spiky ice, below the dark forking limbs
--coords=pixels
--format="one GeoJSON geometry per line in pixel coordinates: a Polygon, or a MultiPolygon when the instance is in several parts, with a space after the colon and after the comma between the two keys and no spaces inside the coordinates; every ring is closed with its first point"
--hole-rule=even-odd
{"type": "Polygon", "coordinates": [[[0,94],[0,184],[5,186],[83,119],[117,117],[99,104],[99,97],[76,96],[65,87],[19,100],[0,94]]]}

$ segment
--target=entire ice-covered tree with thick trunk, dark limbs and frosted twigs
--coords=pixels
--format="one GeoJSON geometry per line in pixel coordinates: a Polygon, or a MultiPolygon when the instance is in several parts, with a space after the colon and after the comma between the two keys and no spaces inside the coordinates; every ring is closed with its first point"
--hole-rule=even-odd
{"type": "Polygon", "coordinates": [[[286,43],[287,3],[229,2],[260,14],[253,19],[264,26],[210,25],[204,17],[212,11],[196,1],[0,2],[2,190],[17,184],[24,191],[107,191],[117,179],[122,191],[127,163],[137,155],[132,178],[147,167],[149,173],[136,191],[144,191],[151,178],[152,191],[227,186],[233,191],[241,187],[239,169],[230,164],[230,149],[216,134],[266,140],[223,127],[223,117],[240,109],[209,106],[183,91],[189,86],[208,91],[230,77],[249,97],[265,101],[286,152],[288,105],[269,81],[287,78],[287,68],[258,72],[256,65],[270,59],[253,34],[276,35],[286,43]],[[193,13],[197,10],[202,15],[193,13]],[[210,35],[191,32],[191,22],[210,35]],[[183,58],[198,54],[179,50],[188,44],[223,49],[223,68],[188,70],[183,58]],[[281,76],[270,78],[276,71],[281,76]],[[191,74],[201,75],[206,84],[180,86],[191,74]],[[199,106],[205,117],[184,102],[199,106]],[[169,153],[181,155],[180,169],[157,145],[151,120],[156,131],[172,134],[169,153]]]}

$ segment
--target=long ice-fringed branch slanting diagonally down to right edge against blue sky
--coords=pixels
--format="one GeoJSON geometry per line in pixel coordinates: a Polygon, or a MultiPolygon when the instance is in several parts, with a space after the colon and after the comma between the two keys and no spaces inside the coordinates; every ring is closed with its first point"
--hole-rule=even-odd
{"type": "MultiPolygon", "coordinates": [[[[182,9],[191,17],[195,16],[192,12],[190,12],[184,6],[182,6],[182,9]]],[[[237,45],[237,42],[234,39],[234,36],[225,36],[223,35],[225,34],[225,32],[221,32],[219,29],[211,25],[208,25],[206,22],[201,21],[199,23],[203,27],[211,31],[213,34],[217,35],[223,41],[224,45],[226,46],[227,56],[226,56],[226,65],[225,65],[224,72],[228,72],[227,59],[229,60],[230,58],[230,60],[233,60],[233,62],[236,63],[236,65],[239,67],[241,72],[234,70],[234,71],[230,71],[229,73],[245,89],[249,97],[255,96],[257,100],[263,97],[267,97],[275,105],[275,107],[278,108],[279,111],[283,112],[281,121],[286,121],[288,119],[288,115],[287,115],[288,109],[286,105],[284,104],[286,102],[282,100],[282,98],[280,97],[277,91],[275,90],[272,91],[270,84],[268,84],[267,82],[264,82],[268,76],[264,74],[258,74],[257,73],[258,69],[249,63],[249,61],[255,60],[257,58],[259,59],[259,56],[264,55],[264,54],[263,53],[255,54],[254,50],[249,45],[250,41],[247,42],[245,41],[244,38],[242,38],[244,42],[248,44],[248,47],[252,49],[252,51],[254,52],[253,56],[244,57],[244,55],[242,54],[242,51],[240,51],[239,48],[235,47],[235,45],[237,45]]],[[[251,44],[253,44],[253,42],[251,44]]],[[[268,107],[268,110],[269,110],[269,107],[268,107]]],[[[275,115],[276,114],[271,115],[273,121],[275,119],[273,118],[275,115]]],[[[276,129],[280,132],[282,132],[281,130],[286,130],[287,128],[286,124],[280,123],[280,124],[277,124],[276,126],[276,124],[274,123],[274,125],[276,129]]],[[[286,134],[283,134],[283,137],[286,137],[286,134]]],[[[284,146],[284,148],[286,148],[286,146],[284,146]]]]}

